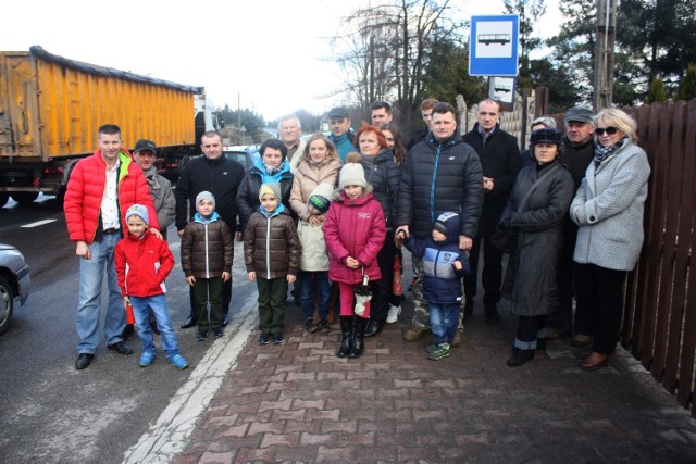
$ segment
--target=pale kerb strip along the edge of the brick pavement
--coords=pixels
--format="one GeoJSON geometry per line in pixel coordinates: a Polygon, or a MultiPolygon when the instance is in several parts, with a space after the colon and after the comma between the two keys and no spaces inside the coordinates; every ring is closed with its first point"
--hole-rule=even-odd
{"type": "Polygon", "coordinates": [[[186,449],[198,418],[206,412],[210,400],[234,367],[251,331],[259,325],[259,313],[253,311],[256,301],[254,293],[247,297],[241,311],[225,329],[229,335],[212,343],[189,380],[170,400],[154,425],[125,452],[124,464],[170,463],[186,449]],[[222,340],[224,343],[219,342],[222,340]]]}

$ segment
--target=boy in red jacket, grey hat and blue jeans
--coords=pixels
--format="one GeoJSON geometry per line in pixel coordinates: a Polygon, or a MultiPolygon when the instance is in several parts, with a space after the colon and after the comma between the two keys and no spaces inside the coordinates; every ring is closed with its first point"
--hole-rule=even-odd
{"type": "Polygon", "coordinates": [[[123,301],[133,305],[135,329],[142,341],[140,367],[154,361],[156,347],[149,323],[149,310],[152,310],[166,358],[176,368],[185,369],[188,362],[179,354],[164,294],[164,279],[174,267],[174,256],[165,241],[146,234],[149,221],[144,205],[128,208],[126,224],[128,235],[116,243],[114,258],[123,301]]]}

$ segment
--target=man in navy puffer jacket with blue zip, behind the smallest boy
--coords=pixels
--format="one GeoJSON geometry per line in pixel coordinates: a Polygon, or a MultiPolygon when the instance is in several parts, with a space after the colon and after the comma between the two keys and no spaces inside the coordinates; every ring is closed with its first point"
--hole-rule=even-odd
{"type": "MultiPolygon", "coordinates": [[[[459,248],[470,250],[483,205],[483,171],[476,152],[456,133],[455,108],[437,103],[433,108],[431,131],[406,159],[399,185],[397,234],[403,230],[423,240],[431,236],[442,213],[456,211],[461,216],[459,248]]],[[[418,274],[412,289],[415,314],[411,328],[403,335],[406,341],[420,339],[430,327],[427,303],[423,300],[423,261],[413,258],[413,265],[418,274]]]]}

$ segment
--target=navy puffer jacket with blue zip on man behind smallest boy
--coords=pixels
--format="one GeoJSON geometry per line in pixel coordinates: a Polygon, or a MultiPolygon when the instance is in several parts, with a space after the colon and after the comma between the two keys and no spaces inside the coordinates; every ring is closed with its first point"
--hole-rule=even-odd
{"type": "Polygon", "coordinates": [[[397,225],[418,239],[431,235],[446,211],[459,213],[459,234],[475,237],[483,205],[483,171],[476,152],[455,134],[444,142],[430,133],[411,149],[399,184],[397,225]]]}

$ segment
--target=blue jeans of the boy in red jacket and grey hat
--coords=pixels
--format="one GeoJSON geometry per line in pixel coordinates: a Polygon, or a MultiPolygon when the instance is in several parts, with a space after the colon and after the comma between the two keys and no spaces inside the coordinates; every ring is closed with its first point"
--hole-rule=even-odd
{"type": "Polygon", "coordinates": [[[150,311],[154,313],[154,321],[157,322],[157,328],[160,330],[160,337],[162,337],[162,349],[166,353],[166,358],[172,358],[178,354],[178,343],[176,341],[176,333],[172,327],[172,319],[166,311],[166,296],[154,294],[152,297],[130,297],[130,304],[133,305],[133,315],[135,316],[135,329],[140,336],[142,341],[142,348],[140,352],[154,353],[156,348],[152,342],[152,329],[150,328],[150,311]]]}

